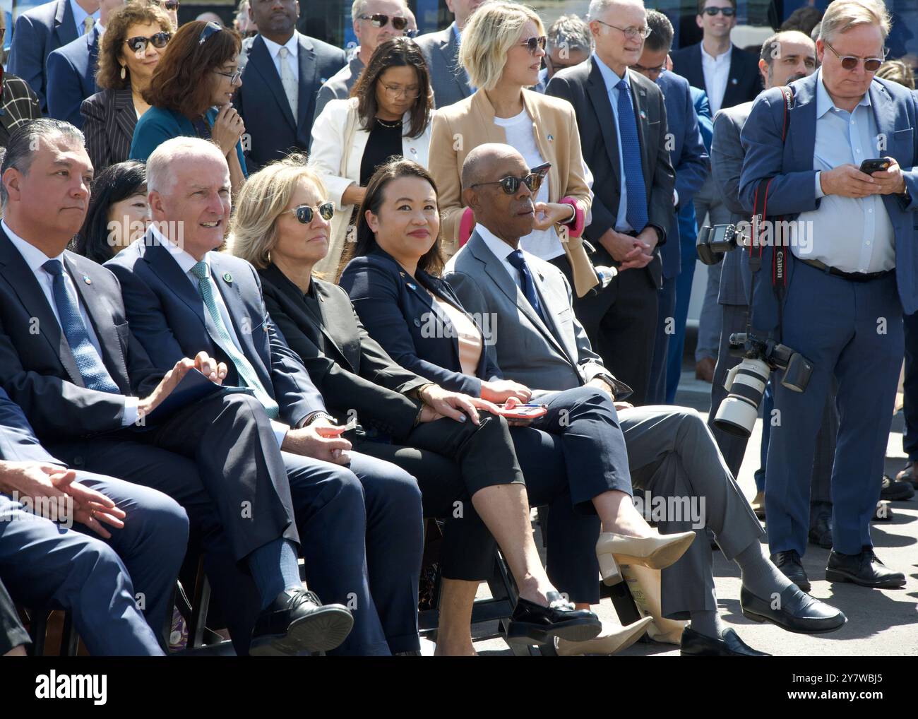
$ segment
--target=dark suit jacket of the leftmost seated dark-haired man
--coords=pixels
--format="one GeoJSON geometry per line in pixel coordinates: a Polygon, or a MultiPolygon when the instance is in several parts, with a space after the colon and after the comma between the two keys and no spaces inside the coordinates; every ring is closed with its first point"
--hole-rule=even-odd
{"type": "MultiPolygon", "coordinates": [[[[128,327],[115,275],[65,252],[106,365],[121,395],[145,397],[162,379],[128,327]]],[[[124,398],[87,389],[39,281],[0,230],[0,384],[43,441],[121,428],[124,398]],[[37,330],[37,331],[36,331],[37,330]]]]}

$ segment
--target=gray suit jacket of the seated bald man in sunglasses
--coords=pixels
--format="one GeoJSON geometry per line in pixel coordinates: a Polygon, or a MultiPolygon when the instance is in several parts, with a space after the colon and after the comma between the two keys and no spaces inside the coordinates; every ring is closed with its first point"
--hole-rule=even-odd
{"type": "Polygon", "coordinates": [[[504,376],[531,388],[554,390],[577,388],[602,376],[615,388],[617,399],[629,394],[631,388],[615,379],[590,349],[587,332],[574,316],[564,273],[530,254],[526,262],[550,326],[477,232],[453,255],[443,277],[467,312],[490,317],[491,349],[504,376]]]}

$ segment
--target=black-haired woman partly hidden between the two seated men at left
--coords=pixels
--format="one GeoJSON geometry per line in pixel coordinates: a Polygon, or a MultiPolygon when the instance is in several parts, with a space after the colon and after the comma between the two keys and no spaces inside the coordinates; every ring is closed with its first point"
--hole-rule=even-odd
{"type": "Polygon", "coordinates": [[[73,252],[98,264],[106,263],[131,242],[143,237],[150,223],[147,170],[129,160],[95,175],[89,209],[73,252]]]}

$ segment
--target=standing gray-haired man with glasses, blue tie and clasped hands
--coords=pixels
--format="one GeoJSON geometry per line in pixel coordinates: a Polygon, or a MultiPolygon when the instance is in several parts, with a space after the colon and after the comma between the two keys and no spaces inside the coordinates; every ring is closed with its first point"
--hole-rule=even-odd
{"type": "MultiPolygon", "coordinates": [[[[628,69],[650,32],[641,0],[593,0],[589,20],[594,53],[555,74],[545,93],[577,112],[595,196],[586,237],[596,246],[594,264],[614,264],[619,274],[574,309],[603,363],[644,404],[662,279],[656,247],[666,242],[674,212],[666,107],[660,88],[628,69]]],[[[565,259],[557,262],[569,275],[565,259]]]]}

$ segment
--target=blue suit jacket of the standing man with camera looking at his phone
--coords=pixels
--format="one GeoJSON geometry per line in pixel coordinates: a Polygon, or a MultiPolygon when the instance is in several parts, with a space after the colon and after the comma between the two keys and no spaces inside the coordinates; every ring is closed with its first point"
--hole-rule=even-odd
{"type": "MultiPolygon", "coordinates": [[[[759,182],[773,178],[768,191],[768,215],[795,219],[800,212],[819,207],[812,167],[816,143],[816,83],[813,73],[790,84],[794,93],[789,110],[787,141],[781,141],[785,101],[779,87],[759,95],[740,135],[745,151],[740,175],[743,207],[754,207],[759,182]]],[[[900,84],[874,78],[870,84],[870,107],[879,135],[887,139],[883,154],[900,164],[908,199],[885,195],[883,204],[890,214],[896,244],[896,282],[902,309],[918,310],[918,102],[912,91],[900,84]]],[[[762,267],[770,273],[771,247],[763,253],[762,267]]],[[[794,263],[789,263],[789,275],[794,263]]],[[[761,271],[760,271],[761,272],[761,271]]],[[[764,276],[764,275],[763,275],[764,276]]],[[[753,289],[753,322],[756,330],[771,331],[778,325],[778,303],[769,281],[756,281],[753,289]]]]}

